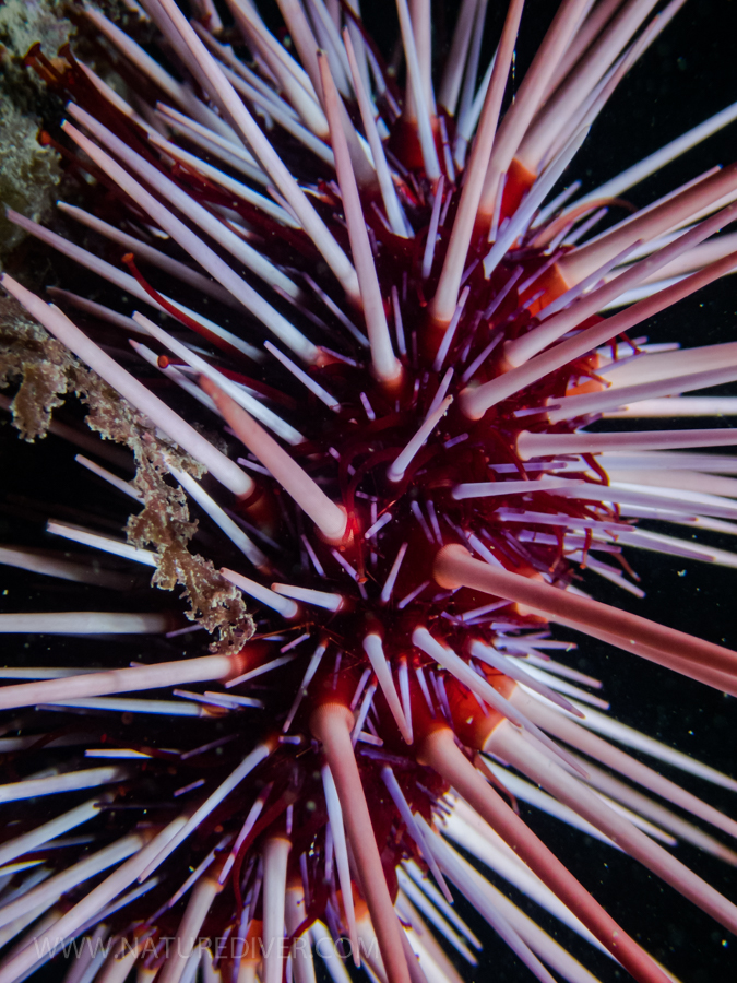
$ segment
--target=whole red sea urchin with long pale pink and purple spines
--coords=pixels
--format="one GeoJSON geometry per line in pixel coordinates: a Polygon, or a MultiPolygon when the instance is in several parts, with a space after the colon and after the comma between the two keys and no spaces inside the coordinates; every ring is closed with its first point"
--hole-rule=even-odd
{"type": "MultiPolygon", "coordinates": [[[[732,220],[716,208],[729,209],[734,170],[704,175],[576,248],[569,241],[590,236],[584,226],[599,211],[592,200],[609,202],[627,183],[589,196],[587,210],[547,200],[593,115],[677,5],[650,23],[653,3],[563,3],[499,128],[519,3],[508,13],[485,102],[483,94],[474,99],[476,66],[466,72],[468,87],[463,79],[480,38],[477,25],[463,40],[463,24],[479,16],[474,2],[461,11],[459,48],[436,94],[427,11],[413,7],[415,33],[400,4],[406,102],[349,9],[328,12],[320,2],[307,4],[309,21],[298,3],[282,4],[289,47],[250,4],[234,2],[253,59],[243,61],[223,45],[227,34],[218,40],[212,11],[209,20],[201,10],[191,28],[168,0],[150,0],[166,69],[87,11],[115,46],[132,107],[71,52],[67,67],[35,54],[48,82],[73,99],[74,122],[64,125],[70,166],[108,189],[94,206],[121,228],[64,211],[117,236],[116,260],[123,250],[134,254],[131,274],[21,216],[13,221],[158,313],[171,312],[163,295],[177,277],[176,303],[194,308],[177,315],[185,330],[165,331],[107,306],[119,300],[93,304],[57,291],[74,318],[81,309],[83,334],[4,279],[29,313],[128,400],[116,417],[110,390],[99,380],[95,388],[96,377],[51,344],[51,362],[68,388],[86,394],[98,428],[134,445],[136,485],[117,483],[144,504],[130,526],[136,553],[126,553],[131,547],[107,536],[103,523],[80,530],[56,522],[52,530],[157,566],[166,585],[182,582],[205,625],[219,623],[221,642],[212,655],[190,659],[177,659],[171,641],[158,659],[152,644],[146,664],[129,668],[97,643],[97,671],[5,671],[39,682],[7,687],[0,706],[43,709],[11,718],[20,733],[7,738],[14,773],[3,800],[48,795],[39,800],[46,803],[63,793],[67,802],[40,827],[41,817],[19,808],[23,831],[0,846],[9,878],[2,937],[32,926],[11,947],[0,980],[23,979],[55,945],[88,937],[105,943],[102,955],[90,967],[78,961],[72,975],[97,972],[109,983],[138,963],[164,983],[192,979],[199,968],[234,981],[258,972],[264,983],[292,972],[301,983],[312,972],[307,941],[330,955],[319,940],[344,933],[368,971],[392,983],[455,979],[423,920],[473,960],[475,939],[462,923],[454,931],[442,921],[441,912],[454,917],[443,902],[445,881],[538,979],[550,979],[545,966],[563,979],[592,979],[449,840],[585,938],[593,933],[635,979],[667,979],[530,831],[508,805],[513,796],[558,809],[590,833],[597,827],[734,931],[735,908],[658,839],[673,844],[678,837],[734,862],[670,806],[727,834],[735,824],[598,734],[734,783],[618,726],[580,686],[568,686],[574,702],[567,702],[560,674],[563,688],[567,679],[592,680],[544,661],[567,647],[550,639],[554,621],[564,626],[558,639],[573,629],[735,692],[734,653],[593,602],[576,585],[587,569],[637,592],[622,545],[734,565],[725,552],[634,525],[656,518],[732,530],[732,479],[713,472],[734,473],[734,459],[674,451],[732,445],[729,431],[619,429],[611,437],[610,428],[584,429],[620,415],[622,404],[635,418],[733,411],[723,398],[697,404],[680,396],[734,379],[730,345],[680,355],[626,332],[737,263],[728,234],[699,245],[732,220]],[[295,47],[304,69],[289,54],[295,47]],[[156,116],[157,98],[174,106],[159,105],[156,116]],[[466,162],[474,102],[484,108],[466,162]],[[161,120],[178,143],[165,139],[161,120]],[[214,281],[187,265],[187,254],[214,281]],[[139,272],[152,261],[164,275],[151,265],[139,272]],[[670,263],[678,265],[664,269],[670,263]],[[691,275],[662,282],[683,273],[691,275]],[[634,304],[622,298],[633,289],[641,291],[634,304]],[[203,291],[212,298],[207,319],[203,291]],[[615,304],[620,312],[602,320],[599,311],[615,304]],[[269,360],[253,347],[264,327],[273,335],[269,360]],[[185,389],[186,403],[171,389],[163,402],[150,378],[139,381],[143,362],[122,352],[131,331],[150,335],[135,342],[136,354],[185,389]],[[617,388],[623,391],[613,399],[617,388]],[[218,416],[219,429],[225,422],[250,452],[241,463],[253,481],[219,449],[218,416]],[[198,461],[216,479],[207,490],[193,476],[201,476],[198,461]],[[162,477],[167,470],[183,489],[179,498],[162,477]],[[219,530],[215,537],[209,526],[200,548],[218,565],[225,559],[225,579],[186,553],[192,529],[185,493],[219,530]],[[223,534],[238,553],[228,554],[223,534]],[[145,549],[151,544],[158,556],[145,549]],[[228,582],[254,609],[255,633],[246,643],[251,627],[228,582]],[[166,688],[161,699],[146,695],[166,688]],[[163,727],[148,724],[153,715],[163,727]],[[83,748],[85,757],[114,760],[82,761],[83,748]],[[97,784],[105,793],[85,796],[97,784]],[[621,805],[630,810],[625,817],[621,805]],[[87,844],[81,860],[72,857],[80,839],[71,830],[87,844]],[[212,945],[200,944],[205,938],[212,945]],[[295,946],[285,960],[287,938],[295,946]]],[[[27,396],[25,376],[24,387],[27,396]]],[[[15,402],[23,421],[24,401],[15,402]]],[[[8,559],[27,565],[29,557],[19,548],[8,559]]],[[[95,573],[88,558],[86,568],[67,561],[46,570],[120,585],[119,572],[95,573]]],[[[36,612],[4,625],[141,632],[152,643],[165,632],[178,638],[171,616],[150,608],[139,595],[123,612],[85,612],[86,624],[79,612],[36,612]]],[[[345,972],[337,959],[325,966],[345,972]]]]}

